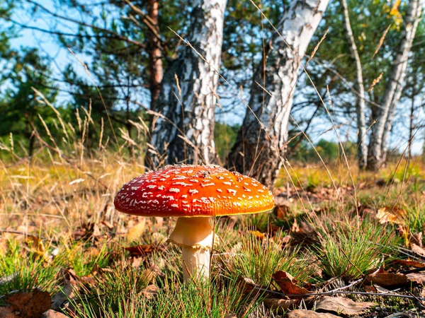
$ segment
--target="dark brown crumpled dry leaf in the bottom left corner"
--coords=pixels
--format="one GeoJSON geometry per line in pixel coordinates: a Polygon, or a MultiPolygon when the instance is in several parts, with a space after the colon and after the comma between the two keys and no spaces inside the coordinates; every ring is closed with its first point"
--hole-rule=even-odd
{"type": "Polygon", "coordinates": [[[20,312],[20,317],[40,317],[43,312],[50,310],[50,294],[35,289],[29,293],[13,293],[5,299],[14,312],[20,312]]]}

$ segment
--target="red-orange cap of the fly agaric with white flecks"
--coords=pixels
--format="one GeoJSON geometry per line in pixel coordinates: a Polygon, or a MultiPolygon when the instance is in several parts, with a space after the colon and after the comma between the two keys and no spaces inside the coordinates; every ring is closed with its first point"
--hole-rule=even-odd
{"type": "Polygon", "coordinates": [[[113,203],[137,216],[227,216],[269,211],[274,199],[260,182],[223,167],[169,165],[124,184],[113,203]]]}

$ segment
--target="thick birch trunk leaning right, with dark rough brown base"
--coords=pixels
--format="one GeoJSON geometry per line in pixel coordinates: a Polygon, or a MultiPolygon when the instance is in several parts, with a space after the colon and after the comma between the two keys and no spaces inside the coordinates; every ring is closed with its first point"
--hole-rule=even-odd
{"type": "Polygon", "coordinates": [[[228,165],[268,187],[273,187],[283,163],[301,60],[328,2],[291,1],[278,25],[282,36],[273,36],[270,50],[254,75],[249,108],[228,165]]]}

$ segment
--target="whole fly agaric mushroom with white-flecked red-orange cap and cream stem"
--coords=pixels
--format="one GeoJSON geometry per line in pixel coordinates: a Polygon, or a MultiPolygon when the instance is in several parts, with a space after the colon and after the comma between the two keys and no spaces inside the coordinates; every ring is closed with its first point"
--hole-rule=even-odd
{"type": "Polygon", "coordinates": [[[223,167],[167,165],[124,184],[114,205],[136,216],[178,217],[168,242],[182,247],[187,281],[191,274],[208,279],[214,237],[209,217],[269,211],[274,200],[255,179],[223,167]]]}

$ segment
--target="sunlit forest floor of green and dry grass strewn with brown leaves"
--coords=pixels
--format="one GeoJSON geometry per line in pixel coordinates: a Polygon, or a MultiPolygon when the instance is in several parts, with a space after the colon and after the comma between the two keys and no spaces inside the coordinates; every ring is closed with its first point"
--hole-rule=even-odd
{"type": "Polygon", "coordinates": [[[143,170],[0,160],[0,317],[425,317],[420,161],[288,165],[274,211],[215,219],[208,283],[182,283],[173,218],[113,208],[143,170]]]}

